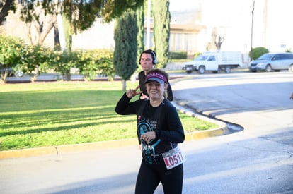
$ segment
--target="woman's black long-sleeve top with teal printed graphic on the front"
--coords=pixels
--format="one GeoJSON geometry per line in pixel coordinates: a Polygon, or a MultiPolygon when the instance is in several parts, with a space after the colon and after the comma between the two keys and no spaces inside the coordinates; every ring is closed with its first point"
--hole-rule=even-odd
{"type": "Polygon", "coordinates": [[[159,107],[152,107],[149,99],[130,102],[126,93],[121,97],[115,107],[117,114],[137,115],[137,138],[142,144],[142,157],[149,163],[161,163],[161,154],[183,143],[184,130],[178,112],[167,99],[159,107]],[[154,131],[156,139],[149,144],[140,139],[147,131],[154,131]]]}

